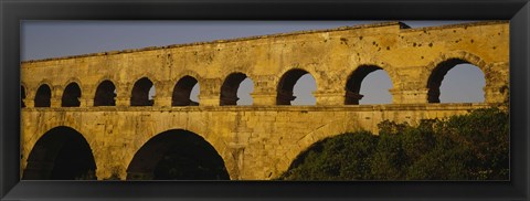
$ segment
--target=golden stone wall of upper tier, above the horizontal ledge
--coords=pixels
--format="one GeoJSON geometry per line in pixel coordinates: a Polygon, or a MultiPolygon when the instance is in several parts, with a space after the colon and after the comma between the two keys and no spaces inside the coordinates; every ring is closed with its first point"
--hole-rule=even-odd
{"type": "Polygon", "coordinates": [[[485,73],[487,103],[506,100],[508,22],[401,27],[381,23],[24,62],[22,82],[30,107],[41,84],[49,84],[52,98],[60,99],[72,82],[82,88],[82,105],[92,106],[104,80],[116,85],[117,105],[127,106],[134,83],[148,77],[157,88],[155,104],[171,106],[173,86],[190,75],[201,86],[200,104],[218,106],[223,81],[241,72],[255,84],[254,105],[275,105],[282,75],[300,68],[316,80],[317,105],[343,105],[349,75],[361,65],[377,65],[390,75],[394,104],[427,103],[433,70],[444,61],[460,59],[485,73]]]}

